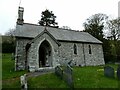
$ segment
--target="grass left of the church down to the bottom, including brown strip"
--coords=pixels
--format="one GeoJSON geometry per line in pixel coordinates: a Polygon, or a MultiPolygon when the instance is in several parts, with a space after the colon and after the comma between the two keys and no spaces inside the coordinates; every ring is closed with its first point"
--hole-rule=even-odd
{"type": "Polygon", "coordinates": [[[14,60],[11,60],[11,54],[2,54],[2,87],[19,88],[20,76],[26,71],[15,71],[14,60]]]}

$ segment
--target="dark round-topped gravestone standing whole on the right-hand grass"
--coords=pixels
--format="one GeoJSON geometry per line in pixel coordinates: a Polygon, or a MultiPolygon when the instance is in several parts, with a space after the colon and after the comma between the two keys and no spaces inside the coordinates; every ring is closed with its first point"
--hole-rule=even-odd
{"type": "Polygon", "coordinates": [[[114,68],[112,68],[110,66],[104,67],[104,75],[106,77],[114,78],[114,76],[115,76],[114,68]]]}

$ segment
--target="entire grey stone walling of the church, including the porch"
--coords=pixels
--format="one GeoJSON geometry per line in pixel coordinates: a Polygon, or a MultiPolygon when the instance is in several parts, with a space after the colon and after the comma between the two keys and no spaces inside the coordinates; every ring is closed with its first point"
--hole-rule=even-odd
{"type": "MultiPolygon", "coordinates": [[[[59,64],[64,65],[70,61],[72,61],[76,66],[95,66],[105,64],[102,45],[60,42],[61,46],[59,47],[49,35],[44,33],[42,36],[34,39],[31,47],[28,49],[27,65],[29,66],[30,71],[39,69],[39,47],[44,40],[47,40],[52,48],[50,58],[52,67],[59,64]],[[77,47],[77,54],[74,54],[74,44],[77,47]],[[89,45],[91,46],[91,54],[89,54],[89,45]]],[[[28,39],[17,39],[16,41],[16,70],[25,69],[25,46],[30,41],[31,40],[28,39]]]]}

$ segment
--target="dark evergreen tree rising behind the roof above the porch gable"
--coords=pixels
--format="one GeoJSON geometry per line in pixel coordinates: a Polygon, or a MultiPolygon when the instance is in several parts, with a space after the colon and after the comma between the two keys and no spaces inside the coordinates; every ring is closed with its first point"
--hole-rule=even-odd
{"type": "Polygon", "coordinates": [[[46,9],[41,14],[41,20],[38,22],[41,26],[58,27],[58,23],[55,22],[56,16],[53,14],[52,11],[46,9]]]}

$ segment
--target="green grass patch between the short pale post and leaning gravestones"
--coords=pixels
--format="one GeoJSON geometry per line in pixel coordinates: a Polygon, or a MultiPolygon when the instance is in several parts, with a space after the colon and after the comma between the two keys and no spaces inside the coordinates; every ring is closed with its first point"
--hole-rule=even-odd
{"type": "Polygon", "coordinates": [[[29,88],[69,88],[67,84],[54,73],[28,79],[29,88]]]}

